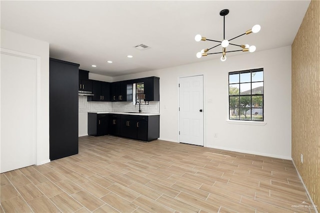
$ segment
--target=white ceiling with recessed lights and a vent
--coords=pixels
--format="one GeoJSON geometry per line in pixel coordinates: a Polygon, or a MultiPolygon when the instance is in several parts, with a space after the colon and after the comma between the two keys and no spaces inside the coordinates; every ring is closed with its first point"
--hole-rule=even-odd
{"type": "MultiPolygon", "coordinates": [[[[217,43],[196,42],[194,36],[222,40],[219,11],[225,8],[230,11],[225,16],[226,39],[261,25],[258,33],[243,35],[233,43],[254,44],[256,51],[291,45],[309,2],[1,0],[1,28],[49,42],[50,57],[79,63],[92,73],[118,76],[218,59],[220,54],[197,58],[196,52],[217,43]],[[134,48],[139,44],[150,48],[134,48]],[[128,58],[129,54],[133,57],[128,58]]],[[[227,56],[236,54],[254,52],[227,56]]]]}

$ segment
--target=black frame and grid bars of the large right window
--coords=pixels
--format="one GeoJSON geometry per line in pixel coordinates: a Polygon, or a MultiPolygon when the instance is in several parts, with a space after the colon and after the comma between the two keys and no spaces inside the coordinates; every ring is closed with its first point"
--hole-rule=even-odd
{"type": "MultiPolygon", "coordinates": [[[[246,91],[242,91],[242,92],[247,92],[248,90],[246,91]]],[[[229,120],[241,120],[241,121],[264,121],[264,70],[263,68],[256,68],[256,69],[247,69],[247,70],[240,70],[240,71],[232,71],[232,72],[229,72],[228,73],[228,114],[229,114],[229,120]],[[262,71],[262,80],[260,81],[253,81],[252,82],[252,72],[258,72],[258,71],[262,71]],[[241,73],[250,73],[250,81],[246,81],[246,82],[241,82],[240,81],[240,76],[241,76],[241,73]],[[230,83],[230,75],[232,74],[238,74],[239,75],[239,79],[238,79],[238,82],[235,82],[235,83],[230,83]],[[258,83],[258,82],[262,82],[262,93],[254,93],[252,94],[252,83],[258,83]],[[241,94],[240,92],[240,88],[241,88],[241,83],[250,83],[250,94],[241,94]],[[236,85],[238,84],[239,85],[239,93],[238,94],[230,94],[230,85],[236,85]],[[252,97],[254,96],[261,96],[262,97],[262,106],[259,106],[259,107],[256,107],[256,106],[253,106],[252,104],[252,97]],[[230,103],[230,97],[231,98],[234,98],[234,97],[238,97],[236,100],[236,98],[234,99],[235,101],[238,101],[237,102],[237,105],[235,106],[231,106],[231,103],[230,103]],[[249,101],[249,106],[245,106],[245,107],[241,107],[241,104],[240,104],[240,98],[241,97],[250,97],[250,101],[249,101]],[[250,110],[250,119],[241,119],[241,113],[240,113],[240,108],[247,108],[247,110],[250,110]],[[252,109],[262,109],[262,119],[252,119],[252,109]],[[231,110],[237,110],[237,118],[231,118],[231,110]]],[[[253,102],[254,103],[254,102],[253,102]]],[[[246,111],[247,111],[246,110],[246,111]]],[[[256,114],[258,115],[258,114],[256,114]]]]}

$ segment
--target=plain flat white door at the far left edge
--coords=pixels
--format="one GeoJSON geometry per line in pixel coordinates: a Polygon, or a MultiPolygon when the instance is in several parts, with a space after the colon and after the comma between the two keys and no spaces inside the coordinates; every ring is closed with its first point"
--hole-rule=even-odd
{"type": "Polygon", "coordinates": [[[0,172],[35,164],[36,60],[1,52],[0,172]]]}

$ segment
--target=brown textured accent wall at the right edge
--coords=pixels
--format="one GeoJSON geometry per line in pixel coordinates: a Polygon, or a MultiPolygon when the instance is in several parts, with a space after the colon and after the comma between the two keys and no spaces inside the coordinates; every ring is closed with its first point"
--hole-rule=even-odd
{"type": "Polygon", "coordinates": [[[292,159],[320,207],[320,1],[311,0],[292,43],[292,159]],[[300,154],[303,154],[303,163],[300,154]]]}

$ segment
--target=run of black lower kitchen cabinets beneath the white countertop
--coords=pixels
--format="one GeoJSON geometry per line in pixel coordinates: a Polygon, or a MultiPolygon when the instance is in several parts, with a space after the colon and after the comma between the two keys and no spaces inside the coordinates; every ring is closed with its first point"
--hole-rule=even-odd
{"type": "Polygon", "coordinates": [[[151,141],[159,137],[159,115],[124,115],[88,112],[88,135],[112,134],[151,141]]]}

